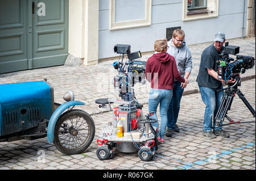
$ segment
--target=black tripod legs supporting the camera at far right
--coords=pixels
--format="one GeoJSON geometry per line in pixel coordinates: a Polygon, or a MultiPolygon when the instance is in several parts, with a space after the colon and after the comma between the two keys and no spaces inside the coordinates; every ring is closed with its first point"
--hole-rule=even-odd
{"type": "Polygon", "coordinates": [[[215,125],[216,127],[220,127],[222,121],[224,121],[225,117],[229,120],[229,124],[232,123],[240,123],[240,121],[235,122],[232,120],[228,115],[228,110],[230,110],[231,104],[233,102],[234,96],[237,94],[240,99],[242,99],[242,102],[245,103],[245,106],[250,110],[250,112],[253,114],[253,117],[255,117],[255,110],[253,107],[251,107],[250,103],[246,100],[244,94],[237,88],[237,83],[240,83],[241,79],[238,79],[236,83],[234,83],[233,86],[228,86],[225,89],[221,89],[218,91],[225,90],[224,95],[221,100],[220,108],[218,108],[217,115],[215,117],[215,125]]]}

